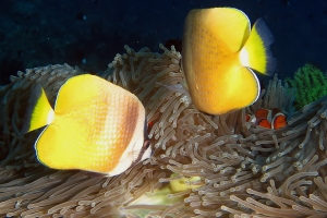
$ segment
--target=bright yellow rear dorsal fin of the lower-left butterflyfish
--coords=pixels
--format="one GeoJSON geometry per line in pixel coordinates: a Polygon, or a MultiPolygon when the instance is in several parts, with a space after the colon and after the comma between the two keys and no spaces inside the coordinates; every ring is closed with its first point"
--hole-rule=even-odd
{"type": "Polygon", "coordinates": [[[92,100],[101,90],[95,75],[83,74],[68,80],[59,89],[55,111],[69,112],[73,108],[92,100]]]}

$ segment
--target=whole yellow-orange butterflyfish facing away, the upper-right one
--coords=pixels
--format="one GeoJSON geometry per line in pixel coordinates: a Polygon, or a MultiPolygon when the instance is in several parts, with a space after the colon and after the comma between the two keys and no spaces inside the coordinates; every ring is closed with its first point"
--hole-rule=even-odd
{"type": "Polygon", "coordinates": [[[263,20],[251,31],[240,10],[192,10],[184,24],[182,69],[195,107],[222,114],[256,101],[261,88],[252,69],[272,73],[272,40],[263,20]]]}

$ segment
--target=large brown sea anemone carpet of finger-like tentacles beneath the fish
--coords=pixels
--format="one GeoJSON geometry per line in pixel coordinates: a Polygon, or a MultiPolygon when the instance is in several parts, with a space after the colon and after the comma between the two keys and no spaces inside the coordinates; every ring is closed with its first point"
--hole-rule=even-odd
{"type": "Polygon", "coordinates": [[[1,86],[0,215],[324,217],[327,97],[303,107],[279,130],[246,122],[245,114],[259,107],[293,110],[294,93],[275,75],[254,105],[207,116],[187,95],[167,88],[183,80],[181,55],[173,47],[160,48],[162,53],[125,47],[126,53],[118,55],[99,75],[134,93],[152,123],[153,157],[112,178],[48,169],[33,149],[39,131],[26,135],[19,131],[36,83],[53,104],[69,77],[86,72],[68,64],[48,65],[19,72],[1,86]],[[190,189],[169,189],[175,181],[190,189]],[[149,196],[161,201],[148,201],[149,196]]]}

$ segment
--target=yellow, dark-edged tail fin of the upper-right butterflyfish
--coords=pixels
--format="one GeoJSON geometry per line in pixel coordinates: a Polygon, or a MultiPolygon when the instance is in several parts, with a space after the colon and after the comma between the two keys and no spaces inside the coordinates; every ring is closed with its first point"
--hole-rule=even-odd
{"type": "Polygon", "coordinates": [[[265,22],[262,19],[257,20],[252,27],[249,39],[241,49],[241,64],[259,73],[271,75],[276,69],[276,59],[269,48],[272,43],[274,37],[265,22]]]}

